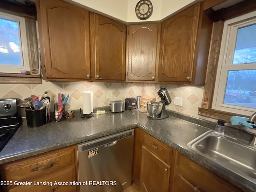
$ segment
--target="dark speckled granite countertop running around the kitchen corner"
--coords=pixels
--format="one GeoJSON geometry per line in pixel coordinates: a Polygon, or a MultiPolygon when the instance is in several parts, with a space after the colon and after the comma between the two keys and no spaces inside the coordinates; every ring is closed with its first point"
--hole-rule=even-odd
{"type": "Polygon", "coordinates": [[[252,182],[196,154],[186,146],[188,142],[208,131],[209,128],[213,129],[215,123],[175,112],[169,113],[171,115],[169,118],[149,120],[147,113],[140,113],[137,110],[133,113],[108,111],[98,116],[94,114],[88,119],[80,118],[78,115],[71,120],[51,122],[37,128],[28,128],[24,122],[0,152],[0,164],[140,127],[234,186],[245,192],[256,191],[256,185],[252,182]]]}

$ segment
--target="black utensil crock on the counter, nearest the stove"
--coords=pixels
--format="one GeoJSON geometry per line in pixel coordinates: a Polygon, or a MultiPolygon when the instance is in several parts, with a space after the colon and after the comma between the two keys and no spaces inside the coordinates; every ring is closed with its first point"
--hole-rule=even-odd
{"type": "Polygon", "coordinates": [[[46,108],[42,110],[25,110],[28,127],[39,127],[46,124],[46,108]]]}

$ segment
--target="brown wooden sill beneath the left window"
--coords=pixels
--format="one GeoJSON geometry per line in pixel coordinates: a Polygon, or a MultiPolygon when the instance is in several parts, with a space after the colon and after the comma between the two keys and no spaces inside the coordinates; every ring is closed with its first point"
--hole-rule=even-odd
{"type": "Polygon", "coordinates": [[[40,75],[0,73],[0,84],[42,84],[40,75]]]}

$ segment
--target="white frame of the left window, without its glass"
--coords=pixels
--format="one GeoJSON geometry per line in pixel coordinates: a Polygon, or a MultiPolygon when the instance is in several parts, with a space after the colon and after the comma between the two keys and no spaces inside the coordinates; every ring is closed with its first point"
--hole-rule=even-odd
{"type": "Polygon", "coordinates": [[[21,58],[21,66],[0,64],[0,73],[19,73],[20,74],[20,70],[30,70],[25,18],[16,16],[16,15],[7,14],[4,12],[0,12],[0,18],[13,20],[18,23],[18,33],[19,33],[19,41],[20,41],[20,58],[21,58]]]}

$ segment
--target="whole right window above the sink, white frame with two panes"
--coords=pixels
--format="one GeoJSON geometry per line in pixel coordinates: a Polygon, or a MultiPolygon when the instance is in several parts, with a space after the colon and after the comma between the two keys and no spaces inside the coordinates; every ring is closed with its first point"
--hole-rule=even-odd
{"type": "Polygon", "coordinates": [[[256,111],[256,11],[224,23],[212,109],[256,111]]]}

